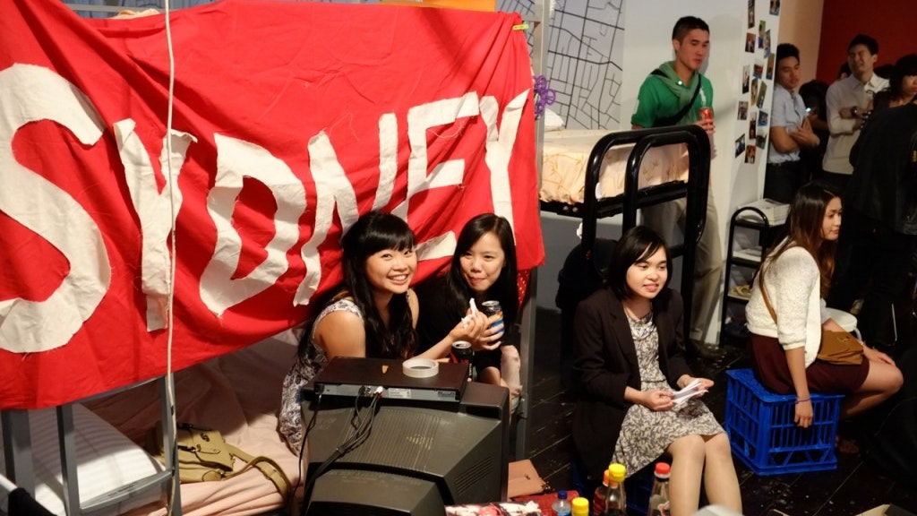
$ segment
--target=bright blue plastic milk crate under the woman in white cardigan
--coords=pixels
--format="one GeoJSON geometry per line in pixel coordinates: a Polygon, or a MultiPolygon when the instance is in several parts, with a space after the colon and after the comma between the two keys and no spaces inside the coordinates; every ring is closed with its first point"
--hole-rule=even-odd
{"type": "Polygon", "coordinates": [[[834,437],[843,395],[812,393],[812,426],[793,422],[795,395],[776,394],[751,369],[726,371],[726,432],[733,454],[757,475],[837,467],[834,437]]]}

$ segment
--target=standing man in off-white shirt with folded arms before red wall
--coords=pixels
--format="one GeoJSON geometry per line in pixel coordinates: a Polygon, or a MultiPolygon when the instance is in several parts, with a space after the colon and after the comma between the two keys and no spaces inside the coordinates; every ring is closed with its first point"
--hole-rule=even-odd
{"type": "Polygon", "coordinates": [[[873,73],[878,61],[878,41],[857,34],[847,45],[847,62],[851,74],[828,88],[828,148],[824,151],[821,179],[843,194],[854,167],[850,164],[850,149],[859,138],[864,115],[872,109],[872,97],[889,86],[889,81],[873,73]]]}

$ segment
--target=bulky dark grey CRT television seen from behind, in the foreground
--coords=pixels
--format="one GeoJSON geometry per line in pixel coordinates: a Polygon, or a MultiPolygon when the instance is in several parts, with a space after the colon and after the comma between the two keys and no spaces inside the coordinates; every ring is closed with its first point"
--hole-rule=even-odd
{"type": "MultiPolygon", "coordinates": [[[[400,365],[397,365],[400,367],[400,365]]],[[[447,365],[448,366],[448,365],[447,365]]],[[[443,514],[446,505],[506,499],[509,393],[470,383],[457,403],[381,398],[370,432],[317,477],[337,447],[370,417],[355,398],[303,391],[308,434],[307,516],[443,514]]]]}

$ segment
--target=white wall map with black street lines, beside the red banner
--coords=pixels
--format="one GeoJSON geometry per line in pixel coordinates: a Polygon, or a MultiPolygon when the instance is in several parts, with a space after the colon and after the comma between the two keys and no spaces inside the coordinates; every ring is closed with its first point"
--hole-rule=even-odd
{"type": "MultiPolygon", "coordinates": [[[[568,129],[617,128],[624,62],[624,0],[557,0],[548,31],[550,107],[568,129]]],[[[531,0],[499,0],[501,11],[527,16],[531,0]]],[[[531,41],[529,41],[531,44],[531,41]]]]}

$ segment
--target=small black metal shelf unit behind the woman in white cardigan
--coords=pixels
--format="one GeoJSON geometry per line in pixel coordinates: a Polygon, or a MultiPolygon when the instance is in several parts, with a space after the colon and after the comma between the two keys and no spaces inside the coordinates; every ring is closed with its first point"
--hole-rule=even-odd
{"type": "Polygon", "coordinates": [[[757,273],[761,259],[774,238],[782,230],[785,222],[774,221],[761,209],[755,207],[738,208],[729,220],[729,240],[726,241],[725,287],[723,290],[723,308],[720,320],[720,339],[724,342],[745,344],[745,306],[748,297],[735,291],[737,286],[748,286],[757,273]],[[740,230],[740,231],[736,231],[740,230]],[[742,232],[742,230],[745,230],[742,232]],[[757,233],[757,238],[754,235],[757,233]],[[739,279],[741,278],[740,281],[739,279]],[[735,317],[741,310],[741,317],[735,317]]]}

